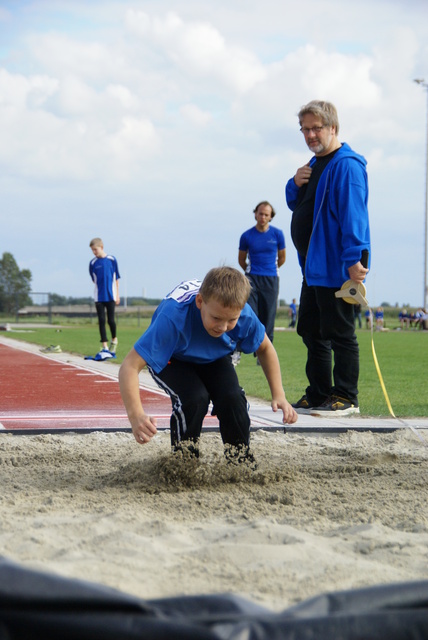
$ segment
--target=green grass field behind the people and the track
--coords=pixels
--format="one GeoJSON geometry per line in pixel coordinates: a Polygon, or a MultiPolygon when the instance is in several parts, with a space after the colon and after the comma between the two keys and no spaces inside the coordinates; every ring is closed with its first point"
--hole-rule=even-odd
{"type": "MultiPolygon", "coordinates": [[[[119,348],[115,362],[120,363],[150,319],[122,319],[118,327],[119,348]]],[[[287,326],[279,319],[278,326],[287,326]]],[[[59,344],[63,351],[78,355],[95,355],[99,350],[98,325],[74,322],[60,327],[21,326],[20,332],[8,337],[43,346],[59,344]]],[[[371,346],[371,333],[358,330],[360,344],[360,411],[364,416],[388,416],[388,406],[376,372],[371,346]]],[[[426,331],[375,332],[374,345],[388,396],[397,417],[427,417],[427,350],[426,331]]],[[[306,349],[293,331],[277,331],[275,347],[281,363],[287,399],[295,402],[307,386],[305,376],[306,349]]],[[[106,367],[109,363],[106,362],[106,367]]],[[[243,355],[237,367],[239,380],[248,396],[269,399],[269,387],[261,367],[252,355],[243,355]]]]}

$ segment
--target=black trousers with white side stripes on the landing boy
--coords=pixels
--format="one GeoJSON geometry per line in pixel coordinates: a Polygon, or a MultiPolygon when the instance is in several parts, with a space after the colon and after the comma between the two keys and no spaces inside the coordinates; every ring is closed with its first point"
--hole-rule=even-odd
{"type": "Polygon", "coordinates": [[[230,356],[208,364],[171,359],[160,373],[150,367],[149,371],[171,398],[173,446],[183,440],[199,439],[210,401],[213,403],[211,413],[219,420],[223,443],[249,445],[247,399],[230,356]]]}

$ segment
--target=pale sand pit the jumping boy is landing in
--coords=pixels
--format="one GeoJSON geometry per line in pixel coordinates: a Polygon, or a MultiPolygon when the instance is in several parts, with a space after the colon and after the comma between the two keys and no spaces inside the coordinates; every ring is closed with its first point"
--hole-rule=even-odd
{"type": "Polygon", "coordinates": [[[0,552],[143,599],[233,592],[280,611],[428,577],[428,449],[408,429],[252,436],[258,469],[169,435],[0,434],[0,552]]]}

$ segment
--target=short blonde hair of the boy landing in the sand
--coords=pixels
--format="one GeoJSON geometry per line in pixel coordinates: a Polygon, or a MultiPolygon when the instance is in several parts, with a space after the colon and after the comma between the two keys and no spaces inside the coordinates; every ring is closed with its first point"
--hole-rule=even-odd
{"type": "Polygon", "coordinates": [[[214,298],[224,307],[243,309],[250,296],[251,285],[238,269],[215,267],[208,271],[199,293],[204,302],[214,298]]]}

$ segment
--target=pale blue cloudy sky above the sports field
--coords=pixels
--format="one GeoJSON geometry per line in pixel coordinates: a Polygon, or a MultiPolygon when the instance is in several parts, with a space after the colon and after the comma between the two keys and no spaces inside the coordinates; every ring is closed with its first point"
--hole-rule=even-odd
{"type": "Polygon", "coordinates": [[[0,2],[0,254],[35,292],[91,296],[89,242],[121,295],[238,266],[268,200],[280,298],[301,272],[284,188],[311,154],[297,113],[339,114],[367,159],[372,306],[424,302],[426,0],[0,2]]]}

